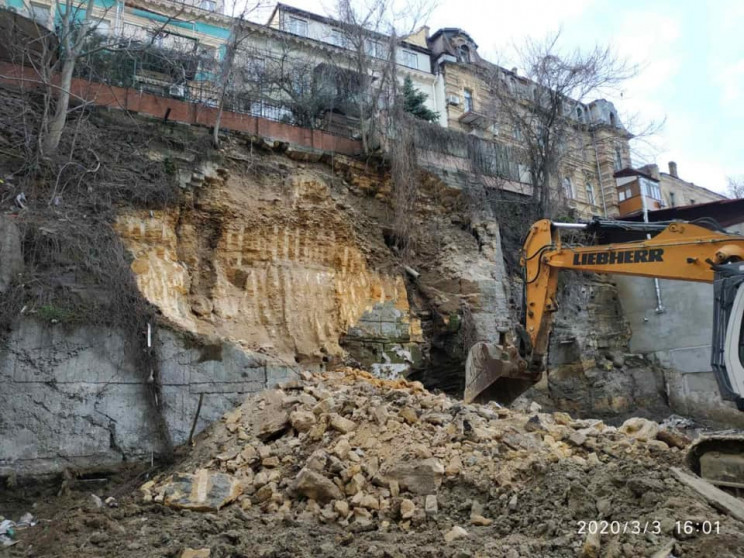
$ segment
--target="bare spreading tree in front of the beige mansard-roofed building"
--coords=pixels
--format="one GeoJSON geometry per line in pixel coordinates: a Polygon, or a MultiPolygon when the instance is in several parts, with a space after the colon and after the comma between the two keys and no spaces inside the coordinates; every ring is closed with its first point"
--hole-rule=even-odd
{"type": "Polygon", "coordinates": [[[615,90],[635,68],[607,47],[562,52],[560,33],[528,40],[520,50],[525,76],[495,67],[489,78],[494,115],[510,129],[533,185],[535,216],[551,216],[564,197],[558,177],[565,161],[586,148],[583,104],[615,90]]]}

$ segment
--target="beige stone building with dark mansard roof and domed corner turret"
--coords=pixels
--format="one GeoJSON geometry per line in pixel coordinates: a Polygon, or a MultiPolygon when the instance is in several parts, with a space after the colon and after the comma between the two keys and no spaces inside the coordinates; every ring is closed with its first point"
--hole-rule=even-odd
{"type": "MultiPolygon", "coordinates": [[[[446,115],[448,127],[510,146],[519,153],[524,148],[524,130],[514,120],[504,119],[494,80],[503,80],[514,95],[527,100],[536,94],[538,86],[518,75],[516,68],[507,70],[481,58],[478,45],[461,29],[440,29],[428,43],[446,101],[439,110],[446,115]]],[[[529,101],[525,107],[529,110],[529,101]]],[[[570,121],[572,133],[567,136],[569,145],[561,156],[559,176],[552,177],[551,183],[562,189],[568,204],[583,216],[616,215],[618,200],[613,175],[630,166],[628,141],[632,136],[609,101],[571,101],[566,107],[570,112],[564,117],[570,121]]],[[[525,158],[517,155],[515,159],[511,178],[529,183],[525,158]]]]}

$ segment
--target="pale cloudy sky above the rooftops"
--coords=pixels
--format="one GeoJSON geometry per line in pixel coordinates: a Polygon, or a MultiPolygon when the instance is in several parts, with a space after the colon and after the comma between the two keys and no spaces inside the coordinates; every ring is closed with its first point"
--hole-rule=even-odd
{"type": "MultiPolygon", "coordinates": [[[[333,5],[285,3],[323,14],[333,5]]],[[[428,25],[464,29],[481,56],[507,67],[515,44],[559,28],[564,47],[612,45],[641,67],[613,99],[620,114],[666,119],[638,152],[720,192],[727,176],[744,175],[744,0],[440,0],[428,25]]]]}

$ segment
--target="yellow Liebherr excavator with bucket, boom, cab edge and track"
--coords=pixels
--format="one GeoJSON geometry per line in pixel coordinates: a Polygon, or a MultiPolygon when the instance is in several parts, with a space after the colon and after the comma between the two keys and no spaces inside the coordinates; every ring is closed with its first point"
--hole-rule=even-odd
{"type": "MultiPolygon", "coordinates": [[[[465,365],[466,402],[509,404],[540,380],[546,370],[553,314],[558,309],[558,274],[570,269],[713,283],[711,365],[723,399],[734,401],[744,411],[744,236],[726,232],[711,219],[663,223],[557,223],[544,219],[530,228],[520,261],[524,296],[516,344],[502,334],[498,343],[480,342],[471,347],[465,365]],[[562,231],[583,231],[584,238],[619,241],[574,245],[561,241],[562,231]]],[[[701,463],[705,468],[706,455],[722,453],[726,463],[708,459],[708,469],[719,477],[709,480],[744,488],[741,438],[710,439],[693,449],[690,465],[695,472],[700,473],[701,463]]]]}

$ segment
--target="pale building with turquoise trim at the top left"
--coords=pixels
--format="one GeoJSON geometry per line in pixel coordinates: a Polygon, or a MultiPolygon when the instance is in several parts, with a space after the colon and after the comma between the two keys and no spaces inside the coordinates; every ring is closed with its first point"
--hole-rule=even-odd
{"type": "MultiPolygon", "coordinates": [[[[66,9],[56,0],[0,0],[0,6],[55,33],[66,9]]],[[[96,0],[88,14],[87,8],[75,2],[73,17],[90,22],[91,41],[112,48],[92,49],[76,65],[79,77],[179,98],[212,88],[205,69],[218,60],[232,23],[221,0],[96,0]]]]}

